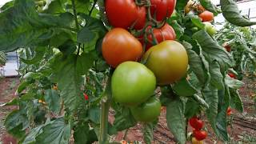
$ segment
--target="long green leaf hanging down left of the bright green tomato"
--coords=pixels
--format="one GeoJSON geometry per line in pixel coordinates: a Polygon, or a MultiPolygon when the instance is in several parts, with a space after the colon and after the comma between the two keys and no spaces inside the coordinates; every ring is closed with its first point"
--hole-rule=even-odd
{"type": "MultiPolygon", "coordinates": [[[[74,112],[83,102],[82,86],[83,78],[77,67],[77,56],[72,54],[68,58],[57,56],[51,66],[54,70],[54,81],[58,83],[60,95],[67,110],[74,112]]],[[[81,68],[79,68],[81,69],[81,68]]]]}

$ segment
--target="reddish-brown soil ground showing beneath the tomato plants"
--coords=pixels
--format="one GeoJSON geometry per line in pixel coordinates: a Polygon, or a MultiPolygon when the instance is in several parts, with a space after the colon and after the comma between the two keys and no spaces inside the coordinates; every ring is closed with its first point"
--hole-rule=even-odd
{"type": "MultiPolygon", "coordinates": [[[[236,111],[233,111],[234,114],[230,116],[231,125],[228,127],[230,134],[229,143],[253,143],[256,144],[256,103],[254,102],[251,95],[256,93],[256,82],[250,79],[245,79],[245,86],[240,90],[242,96],[242,102],[244,104],[244,113],[239,114],[236,111]]],[[[5,78],[0,79],[0,105],[5,102],[9,102],[14,98],[14,92],[17,89],[19,80],[18,78],[5,78]]],[[[10,144],[17,143],[14,138],[6,133],[4,128],[4,119],[6,115],[10,113],[15,107],[4,106],[0,107],[0,144],[10,144]]],[[[166,125],[166,110],[162,110],[162,114],[159,118],[158,125],[154,129],[154,144],[171,144],[176,143],[174,136],[170,133],[166,125]]],[[[206,119],[204,120],[206,122],[206,119]]],[[[207,122],[206,122],[207,123],[207,122]]],[[[130,128],[126,135],[126,140],[128,142],[143,142],[143,135],[141,132],[141,125],[138,124],[130,128]]],[[[188,129],[191,131],[191,128],[188,129]]],[[[207,126],[209,130],[209,136],[206,138],[204,143],[222,143],[217,140],[213,131],[207,126]]],[[[125,132],[119,132],[113,139],[115,141],[121,141],[125,132]]],[[[187,142],[190,143],[190,142],[187,142]]]]}

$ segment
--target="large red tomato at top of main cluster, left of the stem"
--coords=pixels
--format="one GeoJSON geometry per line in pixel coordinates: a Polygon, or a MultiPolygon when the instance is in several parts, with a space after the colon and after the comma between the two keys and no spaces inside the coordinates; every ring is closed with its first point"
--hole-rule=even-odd
{"type": "Polygon", "coordinates": [[[140,30],[146,23],[146,8],[136,6],[134,0],[106,0],[106,17],[114,27],[134,28],[140,30]]]}

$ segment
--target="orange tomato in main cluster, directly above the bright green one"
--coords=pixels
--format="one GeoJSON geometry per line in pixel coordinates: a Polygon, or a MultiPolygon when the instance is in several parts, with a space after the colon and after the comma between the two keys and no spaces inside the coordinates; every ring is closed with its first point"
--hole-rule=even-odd
{"type": "Polygon", "coordinates": [[[116,67],[122,62],[137,61],[142,55],[142,44],[127,30],[114,28],[102,41],[102,54],[106,63],[116,67]]]}

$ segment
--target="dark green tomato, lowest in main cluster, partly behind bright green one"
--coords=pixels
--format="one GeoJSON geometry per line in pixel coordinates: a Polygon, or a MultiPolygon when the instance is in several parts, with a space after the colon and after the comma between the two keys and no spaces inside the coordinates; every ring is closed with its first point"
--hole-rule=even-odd
{"type": "Polygon", "coordinates": [[[161,102],[158,98],[150,98],[139,106],[130,108],[131,114],[138,122],[153,122],[161,112],[161,102]]]}

